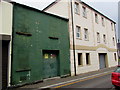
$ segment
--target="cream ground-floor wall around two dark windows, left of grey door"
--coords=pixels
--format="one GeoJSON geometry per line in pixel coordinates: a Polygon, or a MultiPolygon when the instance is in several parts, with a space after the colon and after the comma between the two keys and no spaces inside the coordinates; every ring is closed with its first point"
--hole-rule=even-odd
{"type": "MultiPolygon", "coordinates": [[[[98,60],[98,55],[97,55],[96,51],[77,50],[76,53],[82,53],[82,55],[83,55],[82,56],[83,65],[79,66],[78,60],[76,62],[77,74],[86,73],[86,72],[90,72],[90,71],[96,71],[99,69],[99,60],[98,60]],[[86,64],[86,56],[85,56],[86,53],[90,54],[90,65],[86,64]]],[[[76,58],[77,57],[78,56],[76,55],[76,58]]]]}

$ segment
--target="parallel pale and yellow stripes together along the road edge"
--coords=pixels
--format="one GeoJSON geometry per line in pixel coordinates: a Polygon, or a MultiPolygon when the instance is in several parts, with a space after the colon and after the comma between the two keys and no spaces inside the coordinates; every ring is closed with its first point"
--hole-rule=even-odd
{"type": "Polygon", "coordinates": [[[74,80],[70,80],[70,81],[66,81],[66,82],[62,82],[62,83],[57,83],[57,84],[53,84],[53,85],[49,85],[49,86],[44,86],[44,87],[40,87],[39,89],[43,89],[43,88],[60,88],[60,87],[63,87],[63,86],[74,84],[74,83],[78,83],[78,82],[90,80],[90,79],[93,79],[93,78],[101,77],[101,76],[110,74],[112,71],[113,70],[108,71],[108,72],[95,74],[95,75],[91,75],[91,76],[84,77],[84,78],[78,78],[78,79],[74,79],[74,80]]]}

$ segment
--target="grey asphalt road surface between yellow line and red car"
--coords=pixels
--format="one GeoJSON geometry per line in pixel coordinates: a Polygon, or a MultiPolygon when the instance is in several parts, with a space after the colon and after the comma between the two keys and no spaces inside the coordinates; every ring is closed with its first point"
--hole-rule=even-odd
{"type": "Polygon", "coordinates": [[[111,84],[111,74],[66,85],[61,88],[108,88],[110,90],[115,90],[114,86],[111,84]]]}

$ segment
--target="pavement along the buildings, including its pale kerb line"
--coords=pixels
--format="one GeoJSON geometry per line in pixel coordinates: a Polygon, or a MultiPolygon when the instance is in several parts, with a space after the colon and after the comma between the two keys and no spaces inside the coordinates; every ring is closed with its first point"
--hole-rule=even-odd
{"type": "Polygon", "coordinates": [[[22,87],[18,87],[17,89],[41,89],[41,88],[53,88],[59,85],[63,85],[66,83],[71,83],[71,82],[75,82],[77,80],[82,80],[83,78],[91,78],[94,76],[100,76],[101,74],[106,74],[109,73],[111,74],[112,71],[115,70],[116,67],[111,67],[111,68],[105,68],[105,69],[101,69],[98,71],[93,71],[93,72],[88,72],[88,73],[84,73],[84,74],[79,74],[77,76],[69,76],[69,77],[65,77],[65,78],[53,78],[53,79],[47,79],[44,80],[43,82],[40,83],[36,83],[36,84],[31,84],[31,85],[25,85],[22,87]]]}

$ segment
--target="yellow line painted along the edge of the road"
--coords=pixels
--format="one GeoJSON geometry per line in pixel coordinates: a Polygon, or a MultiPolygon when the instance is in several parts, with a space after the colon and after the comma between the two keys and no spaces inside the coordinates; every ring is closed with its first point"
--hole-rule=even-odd
{"type": "Polygon", "coordinates": [[[86,79],[83,79],[83,80],[73,81],[73,82],[70,82],[70,83],[67,83],[67,84],[64,84],[64,85],[59,85],[59,86],[56,86],[56,87],[53,87],[53,88],[60,88],[60,87],[68,86],[68,85],[83,82],[83,81],[86,81],[86,80],[102,77],[102,76],[108,75],[110,73],[111,72],[108,72],[108,73],[105,73],[105,74],[102,74],[102,75],[98,75],[98,76],[94,76],[94,77],[90,77],[90,78],[86,78],[86,79]]]}

